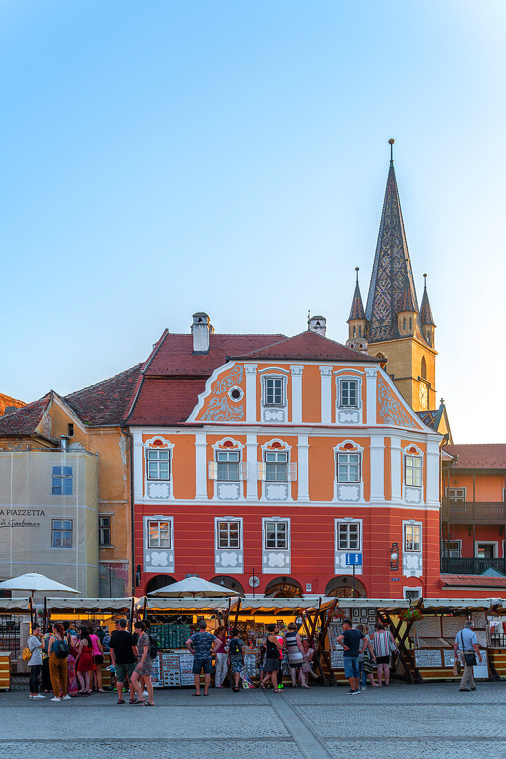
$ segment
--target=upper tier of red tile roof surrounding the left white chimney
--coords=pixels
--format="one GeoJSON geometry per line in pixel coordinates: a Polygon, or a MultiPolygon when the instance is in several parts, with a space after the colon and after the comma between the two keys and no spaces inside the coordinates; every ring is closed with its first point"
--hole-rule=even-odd
{"type": "Polygon", "coordinates": [[[209,354],[193,355],[192,335],[173,335],[165,330],[143,367],[146,376],[210,376],[238,356],[286,340],[286,335],[209,335],[209,354]]]}

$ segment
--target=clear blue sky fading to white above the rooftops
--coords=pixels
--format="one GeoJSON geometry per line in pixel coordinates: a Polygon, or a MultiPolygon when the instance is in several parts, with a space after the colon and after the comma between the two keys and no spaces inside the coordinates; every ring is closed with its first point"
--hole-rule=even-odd
{"type": "Polygon", "coordinates": [[[502,442],[502,2],[2,2],[0,392],[165,327],[347,337],[389,137],[456,442],[502,442]],[[486,402],[485,402],[486,401],[486,402]]]}

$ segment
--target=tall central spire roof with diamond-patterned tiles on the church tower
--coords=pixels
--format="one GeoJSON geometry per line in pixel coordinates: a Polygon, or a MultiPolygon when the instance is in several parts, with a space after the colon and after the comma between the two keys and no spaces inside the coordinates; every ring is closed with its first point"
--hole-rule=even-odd
{"type": "Polygon", "coordinates": [[[418,301],[407,250],[401,201],[394,162],[391,160],[366,305],[369,342],[398,338],[397,314],[406,288],[413,310],[417,312],[418,301]]]}

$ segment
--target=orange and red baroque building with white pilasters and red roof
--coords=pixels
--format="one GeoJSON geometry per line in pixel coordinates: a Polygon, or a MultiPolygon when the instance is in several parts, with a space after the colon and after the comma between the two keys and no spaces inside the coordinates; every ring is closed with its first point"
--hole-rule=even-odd
{"type": "Polygon", "coordinates": [[[141,593],[193,574],[241,593],[440,593],[442,436],[322,317],[287,338],[194,314],[156,343],[125,422],[141,593]]]}

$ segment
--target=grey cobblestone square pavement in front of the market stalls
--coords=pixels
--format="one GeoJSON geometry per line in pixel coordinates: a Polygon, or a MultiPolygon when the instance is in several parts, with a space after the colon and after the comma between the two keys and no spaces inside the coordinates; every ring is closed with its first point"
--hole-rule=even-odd
{"type": "Polygon", "coordinates": [[[53,704],[19,687],[0,693],[0,756],[116,759],[204,756],[329,759],[506,756],[506,683],[391,685],[348,696],[346,688],[155,691],[156,707],[118,706],[115,694],[53,704]]]}

